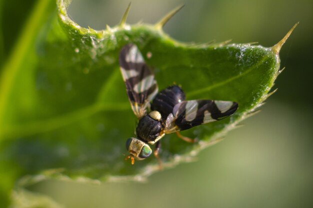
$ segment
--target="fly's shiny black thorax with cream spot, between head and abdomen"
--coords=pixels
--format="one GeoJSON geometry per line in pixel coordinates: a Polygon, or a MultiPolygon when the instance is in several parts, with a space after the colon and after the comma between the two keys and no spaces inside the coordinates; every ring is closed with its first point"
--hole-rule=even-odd
{"type": "Polygon", "coordinates": [[[149,115],[143,116],[137,125],[137,137],[145,142],[154,141],[160,136],[163,130],[161,115],[157,111],[152,111],[149,115]]]}

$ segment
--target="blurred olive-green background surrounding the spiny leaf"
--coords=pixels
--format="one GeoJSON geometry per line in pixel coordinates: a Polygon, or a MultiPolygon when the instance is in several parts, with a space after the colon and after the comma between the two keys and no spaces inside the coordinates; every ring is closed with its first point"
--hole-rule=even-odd
{"type": "MultiPolygon", "coordinates": [[[[34,0],[0,1],[0,61],[12,49],[34,0]],[[13,9],[14,8],[14,9],[13,9]],[[11,12],[13,11],[13,12],[11,12]],[[10,21],[8,21],[10,20],[10,21]]],[[[72,0],[71,18],[81,26],[114,26],[128,0],[72,0]]],[[[262,111],[228,133],[225,140],[181,164],[149,177],[145,184],[86,185],[45,181],[30,189],[70,208],[310,208],[312,161],[312,0],[132,0],[127,22],[155,23],[184,3],[165,32],[184,42],[232,39],[272,46],[291,26],[280,51],[281,68],[262,111]]]]}

